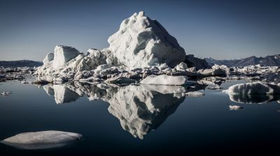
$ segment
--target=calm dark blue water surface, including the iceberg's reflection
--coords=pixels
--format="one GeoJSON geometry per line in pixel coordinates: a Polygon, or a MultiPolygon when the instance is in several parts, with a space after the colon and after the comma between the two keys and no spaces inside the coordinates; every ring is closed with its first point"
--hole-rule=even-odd
{"type": "Polygon", "coordinates": [[[243,102],[239,103],[221,90],[206,89],[201,90],[205,93],[202,97],[176,98],[167,88],[78,85],[45,86],[48,95],[42,86],[1,82],[0,91],[13,94],[0,96],[0,140],[43,130],[76,132],[83,134],[83,139],[43,150],[0,143],[0,155],[280,154],[277,98],[264,99],[267,103],[263,104],[252,103],[250,97],[234,98],[243,102]],[[88,96],[102,100],[90,101],[88,96]],[[244,109],[230,111],[230,104],[244,109]]]}

